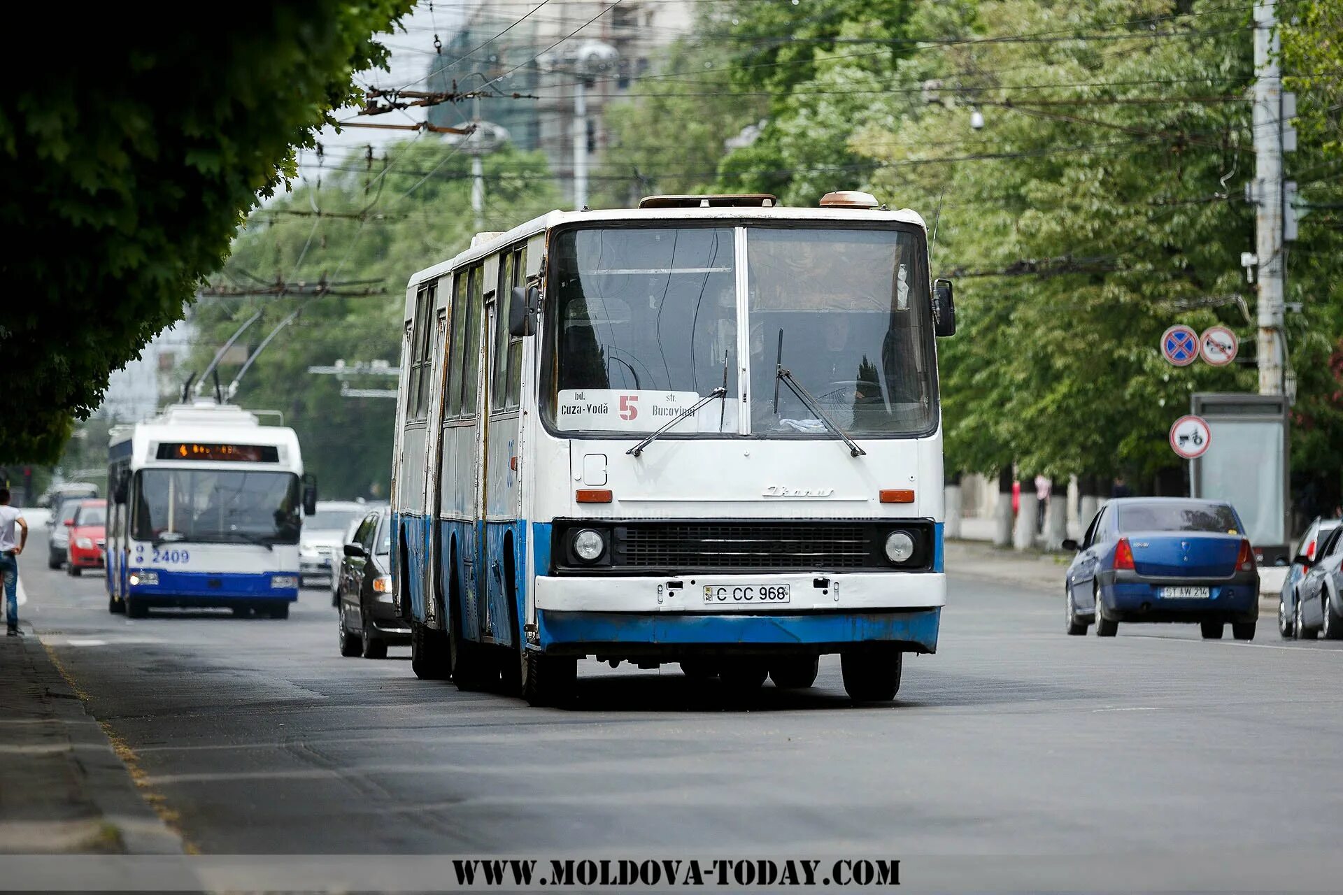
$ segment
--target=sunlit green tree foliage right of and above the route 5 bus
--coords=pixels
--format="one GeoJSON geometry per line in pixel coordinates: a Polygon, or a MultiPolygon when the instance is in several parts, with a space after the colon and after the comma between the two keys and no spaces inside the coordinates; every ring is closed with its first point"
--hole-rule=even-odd
{"type": "MultiPolygon", "coordinates": [[[[1287,325],[1292,462],[1335,487],[1339,5],[1280,5],[1303,115],[1288,156],[1303,196],[1287,264],[1301,306],[1287,325]]],[[[860,187],[936,233],[935,274],[956,280],[962,326],[939,342],[948,468],[1178,474],[1166,433],[1190,393],[1257,389],[1254,286],[1240,266],[1254,247],[1249,5],[743,1],[714,4],[700,38],[732,54],[737,95],[770,94],[768,123],[716,182],[688,187],[790,204],[860,187]],[[1230,326],[1241,362],[1170,366],[1158,344],[1176,322],[1230,326]]]]}

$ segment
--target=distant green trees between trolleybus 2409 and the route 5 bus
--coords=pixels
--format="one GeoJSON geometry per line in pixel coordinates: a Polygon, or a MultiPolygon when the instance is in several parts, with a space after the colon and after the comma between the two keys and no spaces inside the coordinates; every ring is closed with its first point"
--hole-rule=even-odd
{"type": "MultiPolygon", "coordinates": [[[[483,174],[486,231],[510,229],[559,204],[541,153],[505,146],[483,158],[483,174]]],[[[398,365],[407,280],[465,250],[475,232],[469,177],[470,157],[436,137],[395,146],[368,169],[363,160],[337,162],[321,188],[304,187],[255,212],[214,280],[235,290],[275,280],[359,280],[332,291],[376,294],[211,298],[196,306],[197,349],[189,366],[195,370],[205,369],[255,311],[263,311],[261,319],[238,341],[243,354],[255,352],[281,321],[302,309],[257,354],[238,381],[234,401],[285,415],[324,496],[387,498],[395,401],[341,397],[334,376],[313,374],[308,368],[337,360],[398,365]]],[[[222,365],[224,388],[239,368],[236,360],[222,365]]],[[[365,376],[349,385],[395,389],[396,380],[365,376]]],[[[204,393],[212,388],[207,385],[204,393]]]]}

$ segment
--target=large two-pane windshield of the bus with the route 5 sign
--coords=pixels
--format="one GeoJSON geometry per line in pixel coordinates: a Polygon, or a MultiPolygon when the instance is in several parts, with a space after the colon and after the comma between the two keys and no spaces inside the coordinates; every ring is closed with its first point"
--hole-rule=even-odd
{"type": "Polygon", "coordinates": [[[544,408],[556,429],[651,432],[725,388],[729,400],[670,431],[834,437],[778,380],[780,366],[853,435],[933,428],[927,266],[912,229],[748,225],[744,315],[733,238],[731,227],[556,236],[544,408]],[[739,321],[749,326],[745,394],[739,321]],[[745,427],[737,408],[749,408],[745,427]]]}

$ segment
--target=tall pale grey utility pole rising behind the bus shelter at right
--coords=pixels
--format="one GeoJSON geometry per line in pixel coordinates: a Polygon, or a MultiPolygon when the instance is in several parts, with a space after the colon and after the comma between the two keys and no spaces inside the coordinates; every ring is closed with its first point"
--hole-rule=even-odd
{"type": "MultiPolygon", "coordinates": [[[[1277,0],[1254,3],[1254,262],[1258,288],[1260,394],[1283,394],[1283,74],[1279,68],[1277,0]]],[[[1289,129],[1288,129],[1289,130],[1289,129]]],[[[1295,133],[1291,134],[1295,149],[1295,133]]]]}

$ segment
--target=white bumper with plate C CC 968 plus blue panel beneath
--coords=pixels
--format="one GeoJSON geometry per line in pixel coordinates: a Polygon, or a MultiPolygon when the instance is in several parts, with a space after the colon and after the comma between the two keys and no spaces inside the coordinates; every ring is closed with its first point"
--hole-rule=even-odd
{"type": "Polygon", "coordinates": [[[933,572],[541,576],[536,645],[555,653],[649,656],[827,653],[878,643],[936,652],[945,602],[945,576],[933,572]]]}

